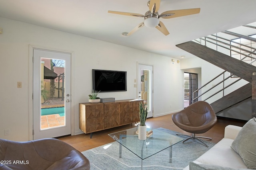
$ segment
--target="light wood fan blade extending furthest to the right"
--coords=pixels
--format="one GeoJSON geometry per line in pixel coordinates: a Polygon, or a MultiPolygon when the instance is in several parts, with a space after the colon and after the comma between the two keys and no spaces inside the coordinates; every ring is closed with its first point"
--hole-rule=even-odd
{"type": "Polygon", "coordinates": [[[159,18],[176,18],[181,16],[188,16],[192,14],[198,14],[200,12],[200,8],[191,8],[191,9],[184,9],[184,10],[170,10],[163,12],[160,14],[159,18]],[[174,15],[173,15],[174,14],[174,15]]]}

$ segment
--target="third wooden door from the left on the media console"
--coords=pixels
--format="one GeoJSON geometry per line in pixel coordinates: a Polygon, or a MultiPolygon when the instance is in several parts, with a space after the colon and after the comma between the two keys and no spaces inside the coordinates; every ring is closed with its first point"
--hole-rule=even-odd
{"type": "Polygon", "coordinates": [[[120,125],[126,125],[132,122],[133,102],[120,103],[120,125]]]}

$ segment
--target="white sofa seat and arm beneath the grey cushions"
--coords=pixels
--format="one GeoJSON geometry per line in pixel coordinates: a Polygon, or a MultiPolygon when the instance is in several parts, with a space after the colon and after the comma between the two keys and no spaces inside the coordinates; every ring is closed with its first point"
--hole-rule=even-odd
{"type": "MultiPolygon", "coordinates": [[[[234,169],[247,169],[240,155],[231,148],[232,142],[234,141],[241,129],[242,127],[235,125],[226,126],[224,138],[193,162],[198,165],[206,164],[229,167],[234,169]]],[[[186,166],[184,170],[189,170],[189,165],[186,166]]]]}

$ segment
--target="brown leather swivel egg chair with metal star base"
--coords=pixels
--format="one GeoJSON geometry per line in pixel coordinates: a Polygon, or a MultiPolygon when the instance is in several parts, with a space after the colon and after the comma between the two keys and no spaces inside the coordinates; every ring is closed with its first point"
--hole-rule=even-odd
{"type": "MultiPolygon", "coordinates": [[[[172,120],[175,125],[177,125],[180,129],[192,133],[191,135],[185,134],[176,134],[176,135],[184,135],[188,136],[188,139],[197,139],[202,142],[206,147],[206,143],[198,138],[206,138],[212,139],[210,137],[196,137],[195,134],[205,133],[210,130],[216,123],[217,117],[215,112],[212,109],[212,106],[204,101],[198,101],[185,109],[174,113],[172,115],[172,120]]],[[[188,139],[182,141],[184,143],[188,139]]]]}

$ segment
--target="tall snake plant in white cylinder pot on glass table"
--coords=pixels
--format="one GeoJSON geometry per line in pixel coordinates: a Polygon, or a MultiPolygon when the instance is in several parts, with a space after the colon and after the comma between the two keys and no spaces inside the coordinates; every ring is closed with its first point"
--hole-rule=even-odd
{"type": "Polygon", "coordinates": [[[138,138],[140,140],[146,140],[147,138],[147,127],[146,127],[146,119],[148,115],[148,108],[146,104],[142,104],[140,102],[140,124],[139,124],[139,129],[138,129],[138,138]]]}

